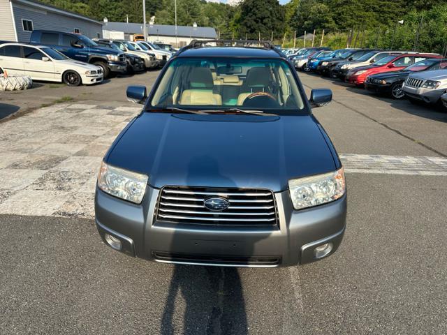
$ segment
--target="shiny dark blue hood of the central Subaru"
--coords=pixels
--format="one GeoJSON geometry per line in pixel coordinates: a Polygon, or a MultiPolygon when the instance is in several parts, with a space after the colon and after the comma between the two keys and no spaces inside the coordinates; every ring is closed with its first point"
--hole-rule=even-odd
{"type": "Polygon", "coordinates": [[[334,171],[318,122],[310,115],[196,115],[143,112],[112,145],[105,162],[166,185],[268,188],[334,171]]]}

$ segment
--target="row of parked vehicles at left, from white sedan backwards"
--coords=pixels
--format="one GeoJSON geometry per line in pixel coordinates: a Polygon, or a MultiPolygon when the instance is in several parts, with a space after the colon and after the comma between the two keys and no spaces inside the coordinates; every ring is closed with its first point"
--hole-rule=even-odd
{"type": "Polygon", "coordinates": [[[172,54],[145,41],[91,40],[80,34],[35,30],[29,43],[0,41],[0,73],[78,86],[160,68],[172,54]]]}

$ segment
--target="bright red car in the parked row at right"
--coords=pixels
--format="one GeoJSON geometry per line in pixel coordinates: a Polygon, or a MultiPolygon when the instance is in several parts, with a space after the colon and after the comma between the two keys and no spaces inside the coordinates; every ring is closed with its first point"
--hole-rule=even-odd
{"type": "Polygon", "coordinates": [[[353,68],[346,74],[346,82],[360,86],[366,81],[368,75],[402,70],[403,68],[406,68],[406,66],[414,64],[417,61],[423,61],[427,58],[442,57],[439,54],[390,54],[369,66],[353,68]]]}

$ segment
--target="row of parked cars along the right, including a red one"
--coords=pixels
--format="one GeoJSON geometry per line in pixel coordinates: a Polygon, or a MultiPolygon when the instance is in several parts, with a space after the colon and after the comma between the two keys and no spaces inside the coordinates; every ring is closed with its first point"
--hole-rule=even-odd
{"type": "Polygon", "coordinates": [[[297,70],[313,71],[395,99],[447,107],[447,59],[440,54],[307,48],[288,57],[297,70]]]}

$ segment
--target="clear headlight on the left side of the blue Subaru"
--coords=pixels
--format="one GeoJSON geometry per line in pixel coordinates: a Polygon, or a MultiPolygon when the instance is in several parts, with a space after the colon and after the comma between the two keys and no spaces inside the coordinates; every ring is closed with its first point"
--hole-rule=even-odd
{"type": "Polygon", "coordinates": [[[145,174],[115,168],[103,162],[99,170],[98,187],[117,198],[140,204],[148,180],[145,174]]]}

